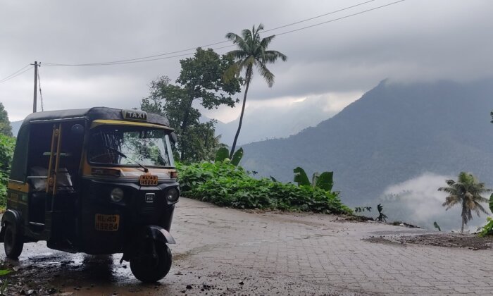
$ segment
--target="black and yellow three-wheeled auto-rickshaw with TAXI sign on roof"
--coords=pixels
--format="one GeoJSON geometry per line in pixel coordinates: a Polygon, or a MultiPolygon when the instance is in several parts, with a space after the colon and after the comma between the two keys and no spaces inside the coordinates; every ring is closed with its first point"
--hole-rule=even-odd
{"type": "Polygon", "coordinates": [[[46,111],[20,127],[0,242],[17,259],[25,242],[87,254],[123,253],[143,282],[171,266],[180,196],[163,116],[104,107],[46,111]]]}

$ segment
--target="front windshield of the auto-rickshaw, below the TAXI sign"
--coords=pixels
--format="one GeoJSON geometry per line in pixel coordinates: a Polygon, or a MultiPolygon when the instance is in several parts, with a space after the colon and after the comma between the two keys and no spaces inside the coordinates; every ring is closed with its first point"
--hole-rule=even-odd
{"type": "Polygon", "coordinates": [[[168,130],[102,125],[89,137],[88,160],[120,166],[175,166],[168,130]]]}

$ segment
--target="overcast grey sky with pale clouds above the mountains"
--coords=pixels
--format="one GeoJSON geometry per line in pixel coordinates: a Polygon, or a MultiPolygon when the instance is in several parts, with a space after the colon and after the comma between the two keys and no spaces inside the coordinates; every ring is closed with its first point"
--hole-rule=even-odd
{"type": "MultiPolygon", "coordinates": [[[[370,1],[264,36],[394,1],[370,1]]],[[[362,2],[1,1],[0,80],[41,61],[45,110],[137,107],[148,94],[151,80],[160,75],[177,78],[179,59],[185,56],[118,66],[44,63],[98,63],[180,51],[222,42],[225,33],[239,33],[258,23],[268,30],[362,2]]],[[[283,108],[293,101],[326,97],[323,108],[342,109],[351,102],[348,96],[358,99],[385,78],[404,82],[492,78],[492,12],[489,0],[406,0],[279,35],[270,49],[282,51],[288,60],[270,66],[276,75],[272,88],[258,75],[254,77],[249,104],[283,108]]],[[[28,70],[0,83],[0,101],[11,121],[32,112],[33,73],[28,70]]],[[[206,115],[231,121],[238,113],[239,108],[222,108],[206,115]]]]}

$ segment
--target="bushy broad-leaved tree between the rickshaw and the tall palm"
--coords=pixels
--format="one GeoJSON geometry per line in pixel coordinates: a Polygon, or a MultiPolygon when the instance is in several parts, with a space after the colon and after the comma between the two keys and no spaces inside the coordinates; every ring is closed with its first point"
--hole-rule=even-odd
{"type": "Polygon", "coordinates": [[[173,84],[162,76],[151,82],[150,94],[142,99],[140,109],[168,117],[177,134],[176,151],[180,161],[192,162],[213,159],[221,147],[215,136],[216,121],[201,123],[201,112],[196,102],[205,109],[226,105],[234,107],[242,79],[233,77],[226,81],[225,70],[233,64],[228,56],[219,56],[212,49],[196,49],[192,58],[180,61],[182,70],[173,84]]]}

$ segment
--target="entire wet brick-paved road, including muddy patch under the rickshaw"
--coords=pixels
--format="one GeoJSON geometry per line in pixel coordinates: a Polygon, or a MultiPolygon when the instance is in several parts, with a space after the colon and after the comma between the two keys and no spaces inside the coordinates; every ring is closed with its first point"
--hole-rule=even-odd
{"type": "Polygon", "coordinates": [[[493,252],[377,244],[423,230],[320,214],[249,213],[182,198],[159,283],[136,280],[121,254],[89,256],[25,244],[8,292],[51,295],[492,295],[493,252]]]}

